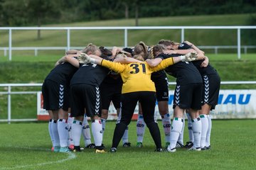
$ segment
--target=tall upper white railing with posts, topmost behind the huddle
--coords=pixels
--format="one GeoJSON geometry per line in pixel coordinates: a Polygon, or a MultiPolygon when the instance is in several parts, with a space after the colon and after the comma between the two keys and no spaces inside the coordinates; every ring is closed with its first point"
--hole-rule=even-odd
{"type": "Polygon", "coordinates": [[[9,60],[11,60],[12,31],[13,30],[66,30],[67,47],[70,50],[70,30],[124,30],[124,47],[128,45],[128,30],[181,30],[181,42],[185,40],[185,30],[213,29],[237,30],[238,59],[241,58],[241,29],[256,29],[256,26],[138,26],[138,27],[0,27],[0,30],[9,30],[9,60]]]}

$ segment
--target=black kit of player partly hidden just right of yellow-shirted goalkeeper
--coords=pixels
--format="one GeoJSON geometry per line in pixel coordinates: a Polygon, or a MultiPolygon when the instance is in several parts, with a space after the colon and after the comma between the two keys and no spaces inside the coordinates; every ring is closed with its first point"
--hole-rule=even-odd
{"type": "Polygon", "coordinates": [[[165,72],[154,72],[151,74],[151,80],[156,87],[157,101],[169,101],[169,83],[165,72]]]}

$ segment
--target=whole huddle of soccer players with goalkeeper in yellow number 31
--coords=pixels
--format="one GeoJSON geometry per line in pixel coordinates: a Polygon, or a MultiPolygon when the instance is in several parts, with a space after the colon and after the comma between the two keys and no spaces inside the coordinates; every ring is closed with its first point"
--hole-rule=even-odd
{"type": "Polygon", "coordinates": [[[176,148],[201,151],[210,149],[210,111],[218,103],[220,77],[208,57],[191,42],[160,40],[149,47],[97,47],[69,50],[56,62],[43,82],[43,108],[49,115],[48,130],[54,152],[80,152],[80,137],[86,148],[105,153],[102,144],[110,102],[117,110],[117,124],[110,152],[119,142],[131,147],[128,125],[139,102],[137,146],[143,147],[145,128],[149,128],[155,152],[176,152],[176,148]],[[166,74],[176,78],[174,118],[169,115],[169,89],[166,74]],[[155,120],[158,102],[166,146],[155,120]],[[189,141],[183,144],[186,113],[189,141]],[[87,117],[92,120],[90,137],[87,117]]]}

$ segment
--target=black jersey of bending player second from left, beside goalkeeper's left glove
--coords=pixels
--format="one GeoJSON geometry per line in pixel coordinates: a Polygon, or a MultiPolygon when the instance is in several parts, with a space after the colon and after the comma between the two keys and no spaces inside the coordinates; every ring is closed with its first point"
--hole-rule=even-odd
{"type": "Polygon", "coordinates": [[[70,81],[73,84],[90,84],[92,86],[100,86],[107,76],[110,69],[97,64],[80,64],[77,72],[70,81]]]}

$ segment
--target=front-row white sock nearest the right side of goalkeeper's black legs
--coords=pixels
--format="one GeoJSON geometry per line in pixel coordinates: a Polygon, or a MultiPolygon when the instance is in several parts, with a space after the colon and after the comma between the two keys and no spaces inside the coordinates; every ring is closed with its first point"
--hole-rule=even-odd
{"type": "Polygon", "coordinates": [[[174,118],[173,123],[171,125],[171,135],[170,135],[171,144],[168,146],[168,149],[173,149],[176,147],[178,136],[181,134],[182,127],[183,127],[183,119],[174,118]]]}

